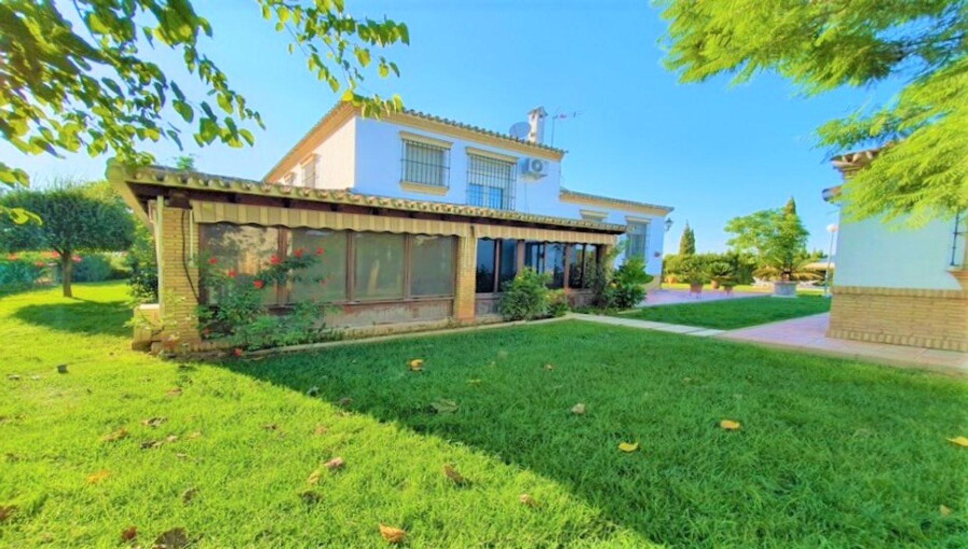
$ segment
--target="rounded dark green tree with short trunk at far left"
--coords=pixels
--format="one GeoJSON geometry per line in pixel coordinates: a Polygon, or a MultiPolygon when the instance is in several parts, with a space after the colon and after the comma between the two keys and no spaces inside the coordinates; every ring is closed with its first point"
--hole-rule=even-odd
{"type": "Polygon", "coordinates": [[[57,252],[66,297],[71,296],[76,254],[121,251],[131,246],[134,238],[134,218],[104,183],[17,189],[0,195],[0,205],[23,208],[41,218],[17,224],[10,217],[0,216],[0,248],[57,252]]]}

